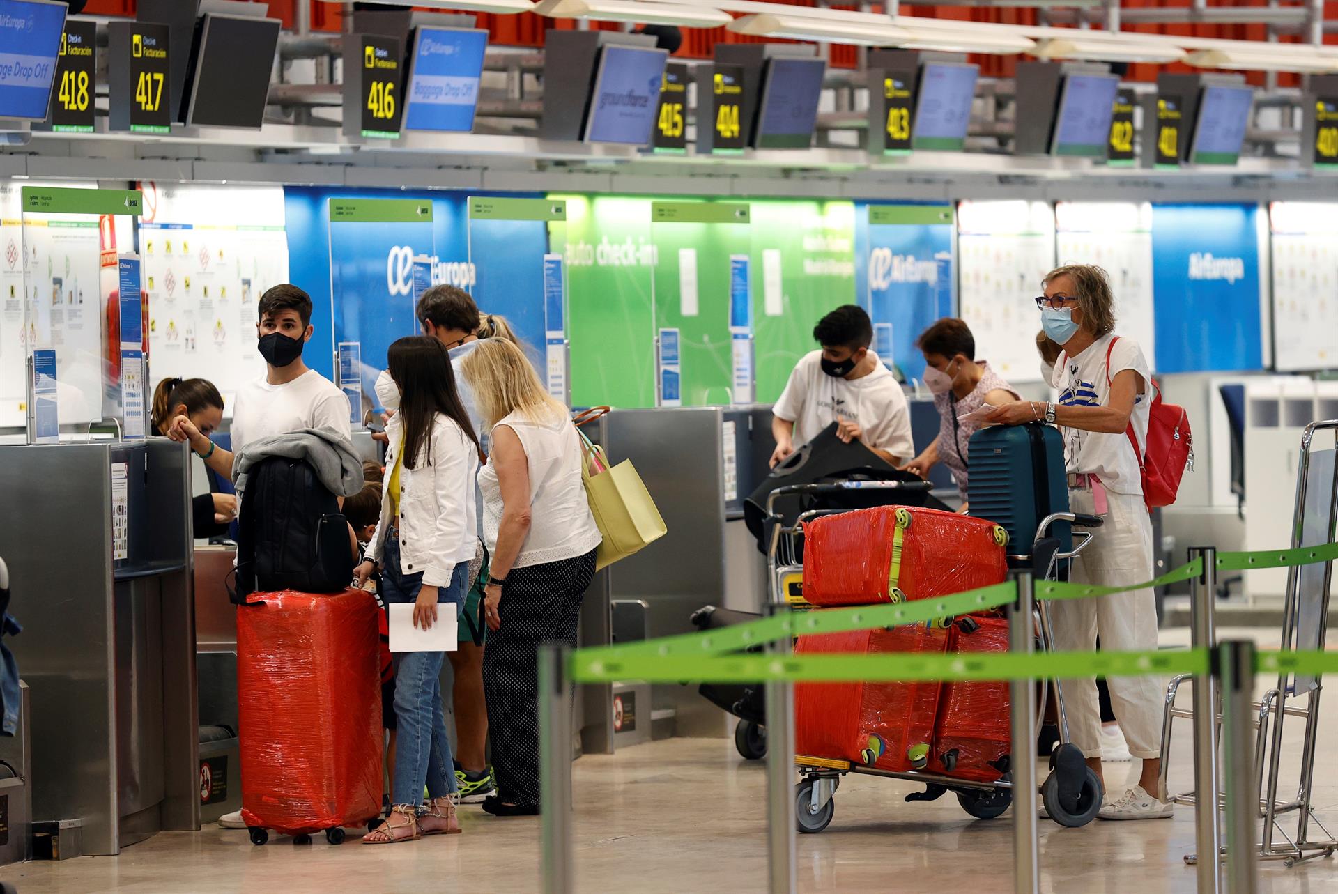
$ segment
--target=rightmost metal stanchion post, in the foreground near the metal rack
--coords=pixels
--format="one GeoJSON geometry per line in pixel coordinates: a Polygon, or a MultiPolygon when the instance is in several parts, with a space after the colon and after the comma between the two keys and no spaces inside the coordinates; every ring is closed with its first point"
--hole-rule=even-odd
{"type": "MultiPolygon", "coordinates": [[[[1254,787],[1254,642],[1230,640],[1218,648],[1222,676],[1222,732],[1227,783],[1227,869],[1230,894],[1255,894],[1259,883],[1259,815],[1254,787]]],[[[1200,861],[1202,861],[1200,854],[1200,861]]]]}

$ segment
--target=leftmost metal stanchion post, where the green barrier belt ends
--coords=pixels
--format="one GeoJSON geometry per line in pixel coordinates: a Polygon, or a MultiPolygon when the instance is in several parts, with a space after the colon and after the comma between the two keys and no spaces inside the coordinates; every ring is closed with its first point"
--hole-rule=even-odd
{"type": "Polygon", "coordinates": [[[571,684],[570,649],[539,646],[539,838],[543,894],[571,894],[571,684]]]}

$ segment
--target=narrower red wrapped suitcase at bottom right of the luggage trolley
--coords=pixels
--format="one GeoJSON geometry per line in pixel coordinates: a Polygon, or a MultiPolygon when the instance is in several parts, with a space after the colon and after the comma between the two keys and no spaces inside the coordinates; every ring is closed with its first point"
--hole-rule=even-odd
{"type": "MultiPolygon", "coordinates": [[[[1008,620],[969,614],[949,634],[949,652],[1008,652],[1008,620]]],[[[1008,772],[1012,752],[1008,683],[947,683],[934,723],[934,772],[994,782],[1008,772]]]]}

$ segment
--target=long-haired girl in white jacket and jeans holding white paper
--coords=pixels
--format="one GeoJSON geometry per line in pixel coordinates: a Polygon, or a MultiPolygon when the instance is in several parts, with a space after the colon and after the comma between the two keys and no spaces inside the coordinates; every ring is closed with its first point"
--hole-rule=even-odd
{"type": "MultiPolygon", "coordinates": [[[[438,621],[439,605],[458,616],[464,602],[478,542],[474,476],[483,454],[456,393],[451,359],[436,339],[400,339],[391,345],[387,365],[400,391],[400,410],[385,427],[381,518],[357,577],[365,582],[380,567],[385,604],[412,602],[413,626],[427,630],[438,621]]],[[[460,831],[439,681],[444,657],[444,652],[395,656],[395,806],[363,839],[365,844],[460,831]]]]}

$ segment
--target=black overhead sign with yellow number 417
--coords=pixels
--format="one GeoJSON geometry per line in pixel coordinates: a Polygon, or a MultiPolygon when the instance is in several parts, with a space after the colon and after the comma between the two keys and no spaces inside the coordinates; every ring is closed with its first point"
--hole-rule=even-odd
{"type": "Polygon", "coordinates": [[[107,24],[108,127],[132,134],[171,131],[171,62],[167,25],[107,24]]]}

